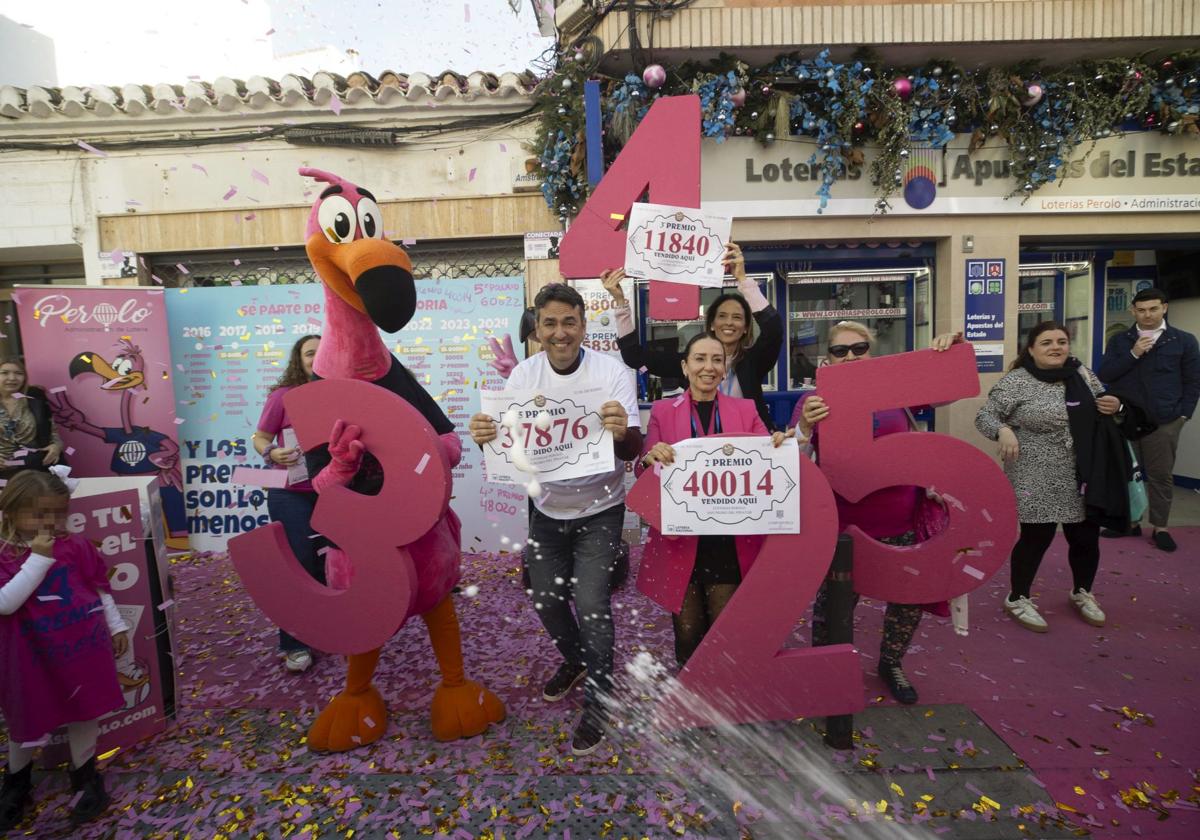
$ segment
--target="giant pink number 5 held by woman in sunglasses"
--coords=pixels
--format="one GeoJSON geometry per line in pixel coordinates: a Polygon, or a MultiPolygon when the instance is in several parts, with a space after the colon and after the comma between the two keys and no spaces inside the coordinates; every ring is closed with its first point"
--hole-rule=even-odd
{"type": "Polygon", "coordinates": [[[1016,539],[1016,499],[996,462],[971,444],[930,432],[874,437],[872,415],[887,408],[941,404],[979,394],[970,344],[917,350],[817,371],[829,406],[821,422],[821,472],[842,498],[858,502],[882,487],[917,485],[941,493],[949,524],[913,547],[854,538],[854,590],[896,604],[962,595],[991,577],[1016,539]]]}

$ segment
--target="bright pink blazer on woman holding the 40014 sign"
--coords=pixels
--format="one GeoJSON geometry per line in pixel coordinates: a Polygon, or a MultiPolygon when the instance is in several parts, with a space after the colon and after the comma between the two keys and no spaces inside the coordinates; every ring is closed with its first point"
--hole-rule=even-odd
{"type": "MultiPolygon", "coordinates": [[[[768,434],[767,426],[758,416],[754,400],[719,396],[721,431],[726,434],[768,434]]],[[[686,394],[659,400],[650,408],[650,422],[646,433],[642,457],[660,440],[676,444],[691,437],[691,401],[686,394]]],[[[642,472],[638,458],[635,468],[642,472]]],[[[738,536],[738,565],[745,577],[750,564],[758,556],[764,536],[738,536]]],[[[642,552],[642,566],[637,574],[637,588],[652,601],[671,612],[679,612],[683,596],[696,565],[696,536],[667,539],[650,528],[642,552]]]]}

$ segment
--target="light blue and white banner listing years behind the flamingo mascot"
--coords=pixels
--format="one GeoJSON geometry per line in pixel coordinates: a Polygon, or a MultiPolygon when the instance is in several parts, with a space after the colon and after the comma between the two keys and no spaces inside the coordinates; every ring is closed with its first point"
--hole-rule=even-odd
{"type": "MultiPolygon", "coordinates": [[[[421,278],[416,300],[408,325],[380,336],[463,442],[451,502],[463,551],[503,550],[524,539],[526,493],[485,486],[467,419],[473,391],[502,383],[487,340],[516,334],[523,280],[421,278]]],[[[320,283],[168,289],[167,314],[192,547],[224,551],[230,536],[270,521],[265,490],[233,481],[233,470],[262,464],[250,438],[292,346],[322,331],[324,292],[320,283]]]]}

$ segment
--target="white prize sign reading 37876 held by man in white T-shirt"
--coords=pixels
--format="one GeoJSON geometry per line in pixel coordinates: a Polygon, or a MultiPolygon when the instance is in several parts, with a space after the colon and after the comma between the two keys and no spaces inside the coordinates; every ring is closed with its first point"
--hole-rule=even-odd
{"type": "Polygon", "coordinates": [[[599,385],[563,394],[481,391],[480,410],[500,424],[497,438],[484,446],[488,481],[563,481],[612,472],[612,432],[600,420],[607,400],[599,385]],[[511,427],[503,422],[509,412],[516,420],[511,427]]]}

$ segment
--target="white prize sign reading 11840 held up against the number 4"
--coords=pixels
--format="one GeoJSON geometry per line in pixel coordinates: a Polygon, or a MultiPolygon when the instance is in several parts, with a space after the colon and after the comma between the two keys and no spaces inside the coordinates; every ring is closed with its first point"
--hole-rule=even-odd
{"type": "Polygon", "coordinates": [[[692,208],[635,204],[625,239],[625,274],[719,289],[731,224],[728,216],[692,208]]]}

